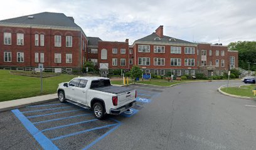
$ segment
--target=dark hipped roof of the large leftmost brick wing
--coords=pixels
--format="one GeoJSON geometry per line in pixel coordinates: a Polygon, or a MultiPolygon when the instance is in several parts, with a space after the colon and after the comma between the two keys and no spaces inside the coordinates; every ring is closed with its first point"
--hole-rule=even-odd
{"type": "MultiPolygon", "coordinates": [[[[63,13],[41,12],[27,16],[14,17],[0,21],[6,24],[26,24],[39,26],[57,26],[57,27],[79,27],[72,21],[73,17],[67,17],[63,13]]],[[[79,27],[80,28],[80,27],[79,27]]]]}

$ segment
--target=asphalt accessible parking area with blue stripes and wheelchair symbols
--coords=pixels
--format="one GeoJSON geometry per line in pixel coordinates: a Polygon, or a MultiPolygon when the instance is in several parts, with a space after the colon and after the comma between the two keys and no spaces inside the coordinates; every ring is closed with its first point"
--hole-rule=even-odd
{"type": "Polygon", "coordinates": [[[58,101],[1,113],[0,149],[89,149],[164,91],[141,85],[131,88],[137,90],[137,106],[131,113],[109,115],[102,121],[90,110],[58,101]]]}

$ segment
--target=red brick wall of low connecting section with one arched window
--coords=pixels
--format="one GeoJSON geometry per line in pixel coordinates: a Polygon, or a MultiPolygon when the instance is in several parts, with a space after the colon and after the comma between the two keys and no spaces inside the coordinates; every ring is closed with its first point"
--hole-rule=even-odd
{"type": "Polygon", "coordinates": [[[99,41],[98,63],[109,63],[109,69],[129,69],[129,43],[99,41]],[[112,54],[112,49],[117,48],[117,54],[112,54]],[[107,49],[107,60],[101,59],[101,50],[107,49]],[[120,54],[120,49],[125,49],[125,54],[120,54]],[[112,58],[117,58],[117,66],[112,66],[112,58]],[[125,59],[125,66],[120,66],[120,59],[125,59]]]}

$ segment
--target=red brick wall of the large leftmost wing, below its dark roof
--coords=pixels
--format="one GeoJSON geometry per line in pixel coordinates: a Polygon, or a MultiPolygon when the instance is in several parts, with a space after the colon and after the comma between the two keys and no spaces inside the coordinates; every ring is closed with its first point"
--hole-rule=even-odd
{"type": "MultiPolygon", "coordinates": [[[[80,67],[81,49],[80,49],[80,31],[65,31],[54,29],[38,29],[30,27],[4,27],[0,26],[0,66],[26,66],[37,67],[35,63],[35,53],[45,54],[45,68],[48,67],[80,67]],[[4,45],[4,32],[12,33],[11,45],[4,45]],[[24,33],[24,46],[17,46],[16,33],[24,33]],[[35,34],[45,35],[45,46],[35,46],[35,34]],[[61,47],[55,47],[55,35],[61,36],[61,47]],[[72,47],[66,47],[66,36],[72,36],[72,47]],[[11,51],[12,62],[4,62],[4,51],[11,51]],[[24,53],[24,63],[17,63],[17,52],[24,53]],[[61,53],[61,64],[55,63],[55,53],[61,53]],[[72,54],[72,63],[66,63],[66,54],[72,54]]],[[[86,41],[87,43],[87,41],[86,41]]],[[[85,55],[85,53],[82,53],[85,55]]],[[[40,54],[39,54],[40,62],[40,54]]]]}

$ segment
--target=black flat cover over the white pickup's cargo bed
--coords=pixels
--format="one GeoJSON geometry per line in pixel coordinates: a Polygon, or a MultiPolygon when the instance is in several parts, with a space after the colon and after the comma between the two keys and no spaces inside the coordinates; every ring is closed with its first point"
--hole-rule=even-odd
{"type": "Polygon", "coordinates": [[[104,87],[92,88],[92,89],[96,91],[102,91],[105,93],[112,93],[112,94],[121,94],[121,93],[126,93],[134,90],[132,88],[123,87],[123,86],[104,86],[104,87]]]}

